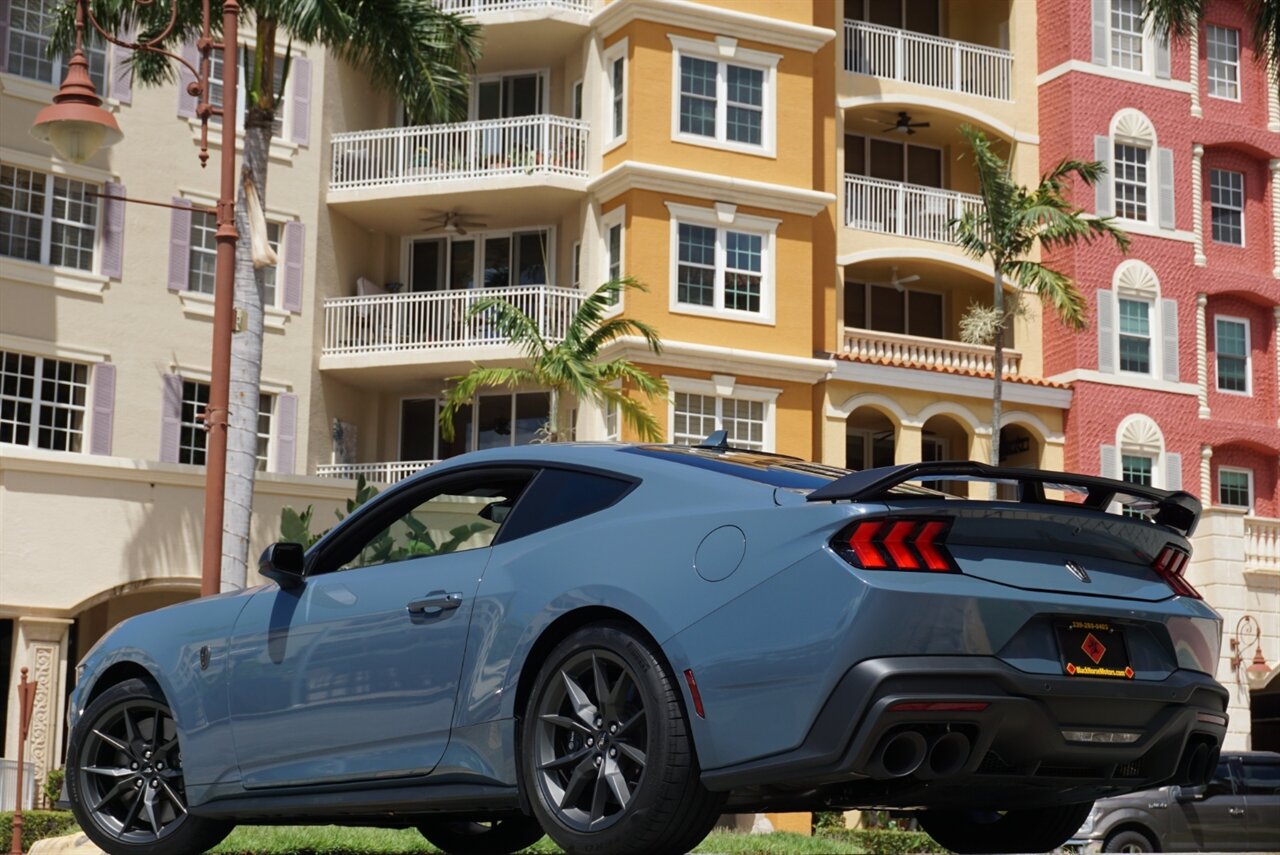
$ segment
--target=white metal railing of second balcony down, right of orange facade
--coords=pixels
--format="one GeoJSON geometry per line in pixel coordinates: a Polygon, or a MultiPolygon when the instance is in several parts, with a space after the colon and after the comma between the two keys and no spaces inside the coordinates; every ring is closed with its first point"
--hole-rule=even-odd
{"type": "Polygon", "coordinates": [[[845,225],[852,229],[951,243],[951,220],[980,207],[973,193],[845,175],[845,225]]]}

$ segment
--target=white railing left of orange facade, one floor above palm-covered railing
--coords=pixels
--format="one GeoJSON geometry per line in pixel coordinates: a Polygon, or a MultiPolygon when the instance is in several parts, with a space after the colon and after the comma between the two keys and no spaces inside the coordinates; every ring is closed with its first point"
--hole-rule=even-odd
{"type": "Polygon", "coordinates": [[[497,175],[586,177],[586,122],[558,115],[333,134],[329,189],[497,175]]]}

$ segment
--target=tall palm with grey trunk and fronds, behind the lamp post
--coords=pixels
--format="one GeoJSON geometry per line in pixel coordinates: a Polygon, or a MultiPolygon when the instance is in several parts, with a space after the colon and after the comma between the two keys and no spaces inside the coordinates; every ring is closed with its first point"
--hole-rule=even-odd
{"type": "MultiPolygon", "coordinates": [[[[177,24],[160,46],[177,52],[200,35],[204,0],[178,4],[177,24]]],[[[221,23],[214,3],[212,22],[221,23]]],[[[419,122],[444,122],[465,115],[470,73],[480,56],[480,28],[439,10],[429,0],[241,0],[252,20],[252,49],[243,51],[244,170],[259,204],[266,206],[268,151],[271,125],[280,109],[294,41],[320,45],[330,55],[366,72],[374,84],[394,93],[406,115],[419,122]],[[283,73],[276,77],[276,49],[284,45],[283,73]]],[[[136,32],[147,40],[168,26],[169,3],[92,0],[93,14],[108,32],[136,32]]],[[[67,52],[74,33],[73,4],[59,13],[51,52],[67,52]]],[[[243,31],[242,31],[243,32],[243,31]]],[[[166,56],[131,55],[131,73],[145,86],[174,78],[166,56]]],[[[227,81],[225,84],[232,84],[227,81]]],[[[234,116],[225,116],[234,127],[234,116]]],[[[262,289],[265,268],[255,269],[252,223],[246,184],[236,202],[236,306],[246,326],[232,339],[230,416],[227,435],[227,500],[223,522],[223,590],[244,587],[250,515],[257,475],[257,401],[262,374],[262,289]]]]}

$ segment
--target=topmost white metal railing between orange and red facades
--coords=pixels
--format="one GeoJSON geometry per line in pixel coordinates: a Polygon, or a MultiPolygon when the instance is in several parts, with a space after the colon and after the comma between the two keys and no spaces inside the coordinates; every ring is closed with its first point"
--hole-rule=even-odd
{"type": "Polygon", "coordinates": [[[845,22],[845,70],[1012,100],[1012,52],[864,20],[845,22]]]}

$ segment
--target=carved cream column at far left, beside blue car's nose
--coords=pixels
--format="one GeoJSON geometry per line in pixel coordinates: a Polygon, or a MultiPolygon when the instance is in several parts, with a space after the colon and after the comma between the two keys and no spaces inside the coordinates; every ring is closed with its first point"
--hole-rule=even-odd
{"type": "MultiPolygon", "coordinates": [[[[19,617],[14,644],[13,673],[28,668],[28,680],[37,681],[36,703],[31,714],[27,760],[35,764],[36,792],[50,769],[63,762],[63,721],[67,709],[67,627],[72,621],[56,617],[19,617]]],[[[18,686],[8,686],[9,717],[5,728],[5,756],[18,755],[18,686]]]]}

